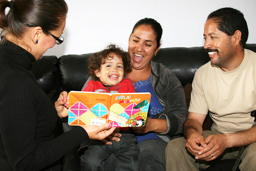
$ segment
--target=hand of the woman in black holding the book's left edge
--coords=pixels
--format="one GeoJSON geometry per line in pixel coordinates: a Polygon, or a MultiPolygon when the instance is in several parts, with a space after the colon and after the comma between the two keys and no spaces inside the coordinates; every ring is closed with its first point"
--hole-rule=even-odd
{"type": "Polygon", "coordinates": [[[57,110],[58,116],[60,118],[66,118],[68,116],[68,101],[69,95],[66,91],[62,91],[58,100],[55,102],[54,106],[57,110]]]}

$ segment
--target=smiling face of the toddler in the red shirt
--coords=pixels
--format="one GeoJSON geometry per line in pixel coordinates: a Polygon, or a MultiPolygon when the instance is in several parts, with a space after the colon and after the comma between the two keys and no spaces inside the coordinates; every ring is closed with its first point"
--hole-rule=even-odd
{"type": "Polygon", "coordinates": [[[95,75],[102,84],[114,86],[120,83],[124,78],[124,64],[122,58],[116,54],[110,54],[111,57],[105,59],[105,64],[101,64],[100,71],[96,70],[95,75]]]}

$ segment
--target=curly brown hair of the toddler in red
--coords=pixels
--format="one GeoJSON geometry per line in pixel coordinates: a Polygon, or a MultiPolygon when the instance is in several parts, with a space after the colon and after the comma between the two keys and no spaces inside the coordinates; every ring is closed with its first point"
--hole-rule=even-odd
{"type": "Polygon", "coordinates": [[[89,59],[88,59],[88,70],[89,75],[92,77],[94,81],[99,81],[100,79],[95,75],[96,70],[101,69],[101,64],[105,64],[105,59],[108,58],[108,60],[113,59],[113,54],[116,54],[118,57],[122,58],[124,63],[124,73],[128,74],[131,72],[132,66],[131,66],[131,59],[128,52],[123,51],[122,48],[118,47],[115,44],[110,44],[107,46],[106,49],[94,53],[89,59]]]}

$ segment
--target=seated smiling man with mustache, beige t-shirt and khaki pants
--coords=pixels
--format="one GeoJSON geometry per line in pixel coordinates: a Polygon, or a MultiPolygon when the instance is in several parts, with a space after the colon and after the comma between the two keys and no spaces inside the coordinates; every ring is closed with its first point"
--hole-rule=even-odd
{"type": "Polygon", "coordinates": [[[256,53],[244,49],[248,27],[243,13],[233,8],[212,12],[203,36],[211,60],[196,71],[185,137],[167,145],[166,169],[207,168],[221,159],[235,159],[247,146],[239,168],[255,170],[256,127],[250,114],[256,110],[256,53]],[[203,131],[208,112],[213,125],[203,131]]]}

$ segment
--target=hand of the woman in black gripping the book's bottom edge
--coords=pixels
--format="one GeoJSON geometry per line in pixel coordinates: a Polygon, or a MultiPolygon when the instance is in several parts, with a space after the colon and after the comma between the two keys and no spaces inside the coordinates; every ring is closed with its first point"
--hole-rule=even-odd
{"type": "Polygon", "coordinates": [[[89,125],[80,127],[82,127],[88,133],[89,138],[93,140],[103,140],[115,130],[115,127],[111,128],[111,124],[109,123],[101,126],[89,125]]]}

